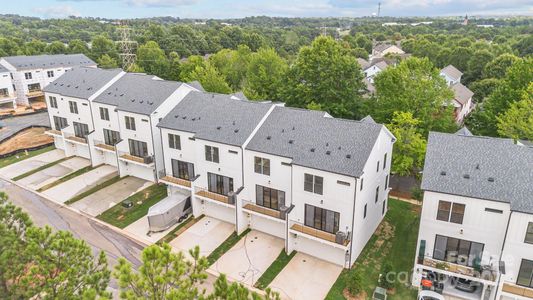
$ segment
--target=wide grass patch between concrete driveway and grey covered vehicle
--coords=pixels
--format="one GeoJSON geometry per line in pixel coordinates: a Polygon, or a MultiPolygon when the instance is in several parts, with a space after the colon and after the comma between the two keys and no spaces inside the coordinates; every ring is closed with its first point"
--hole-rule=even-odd
{"type": "Polygon", "coordinates": [[[145,216],[150,206],[163,200],[166,196],[167,186],[154,184],[129,196],[124,201],[98,215],[97,218],[118,228],[125,228],[145,216]],[[131,201],[133,206],[130,208],[123,207],[122,203],[125,201],[131,201]]]}

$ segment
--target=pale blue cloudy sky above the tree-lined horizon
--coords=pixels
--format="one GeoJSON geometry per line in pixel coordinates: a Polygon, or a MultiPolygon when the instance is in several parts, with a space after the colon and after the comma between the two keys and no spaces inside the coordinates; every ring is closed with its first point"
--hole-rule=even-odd
{"type": "Polygon", "coordinates": [[[533,0],[0,0],[0,14],[41,18],[533,15],[533,0]]]}

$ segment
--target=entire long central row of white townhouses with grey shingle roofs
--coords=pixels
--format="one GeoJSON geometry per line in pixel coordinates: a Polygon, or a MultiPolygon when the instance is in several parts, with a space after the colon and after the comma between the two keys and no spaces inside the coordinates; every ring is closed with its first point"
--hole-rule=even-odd
{"type": "Polygon", "coordinates": [[[370,117],[76,68],[45,88],[57,148],[191,197],[193,215],[256,229],[348,267],[387,212],[394,136],[370,117]]]}

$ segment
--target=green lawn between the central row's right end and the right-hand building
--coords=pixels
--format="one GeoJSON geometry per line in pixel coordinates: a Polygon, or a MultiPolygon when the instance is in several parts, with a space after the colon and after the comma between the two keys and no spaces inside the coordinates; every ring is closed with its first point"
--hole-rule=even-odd
{"type": "MultiPolygon", "coordinates": [[[[384,221],[367,243],[352,269],[342,271],[326,299],[344,299],[342,292],[346,287],[346,279],[350,272],[355,272],[355,270],[361,272],[363,286],[367,298],[370,299],[377,286],[381,267],[385,263],[391,263],[396,273],[407,272],[408,275],[403,277],[410,280],[419,222],[419,206],[389,198],[389,211],[384,221]]],[[[412,289],[409,284],[396,281],[394,290],[389,294],[388,299],[416,299],[416,295],[416,289],[412,289]]]]}

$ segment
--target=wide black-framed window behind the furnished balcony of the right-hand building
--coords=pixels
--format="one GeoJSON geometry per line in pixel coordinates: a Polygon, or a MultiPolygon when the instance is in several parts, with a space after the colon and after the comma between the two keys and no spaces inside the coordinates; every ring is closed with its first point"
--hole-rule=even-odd
{"type": "Polygon", "coordinates": [[[433,258],[463,266],[474,267],[481,262],[485,244],[447,237],[435,236],[433,258]]]}

